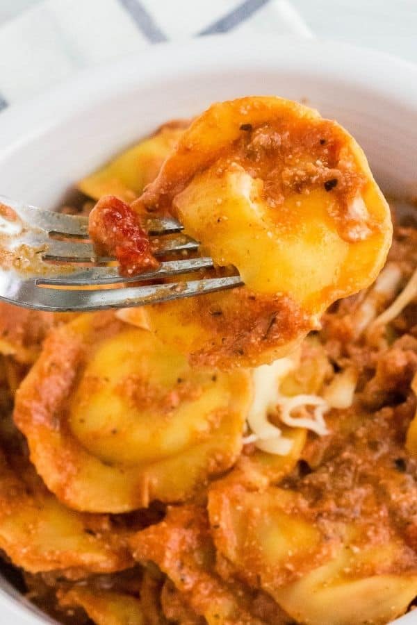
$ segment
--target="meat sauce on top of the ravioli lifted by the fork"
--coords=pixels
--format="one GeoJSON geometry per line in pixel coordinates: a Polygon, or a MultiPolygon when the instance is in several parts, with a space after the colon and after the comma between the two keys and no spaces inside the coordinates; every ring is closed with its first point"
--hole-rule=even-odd
{"type": "MultiPolygon", "coordinates": [[[[245,129],[246,130],[246,129],[245,129]]],[[[352,169],[343,151],[345,138],[332,122],[321,120],[296,124],[263,124],[247,129],[236,142],[227,160],[239,163],[253,178],[263,180],[263,199],[279,208],[290,193],[309,194],[324,188],[336,194],[340,207],[334,215],[339,234],[354,240],[370,224],[355,215],[351,205],[366,183],[363,174],[352,169]]],[[[368,230],[367,230],[368,231],[368,230]]]]}

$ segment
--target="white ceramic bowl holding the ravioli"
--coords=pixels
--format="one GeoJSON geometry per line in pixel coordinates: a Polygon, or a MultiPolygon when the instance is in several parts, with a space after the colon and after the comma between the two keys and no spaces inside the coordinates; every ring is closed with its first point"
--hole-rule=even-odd
{"type": "MultiPolygon", "coordinates": [[[[153,47],[1,113],[0,192],[54,207],[78,178],[165,120],[252,94],[306,101],[338,119],[384,190],[417,195],[416,66],[334,42],[224,37],[153,47]]],[[[6,590],[0,622],[47,620],[6,590]]]]}

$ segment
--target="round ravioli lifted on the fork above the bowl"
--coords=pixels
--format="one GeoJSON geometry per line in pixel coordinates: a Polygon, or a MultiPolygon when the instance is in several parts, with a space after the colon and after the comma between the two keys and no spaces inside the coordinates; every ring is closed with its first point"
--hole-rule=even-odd
{"type": "Polygon", "coordinates": [[[357,142],[277,97],[211,106],[132,206],[178,217],[222,272],[239,272],[244,288],[147,311],[161,339],[227,367],[283,356],[333,301],[373,282],[391,242],[357,142]]]}

